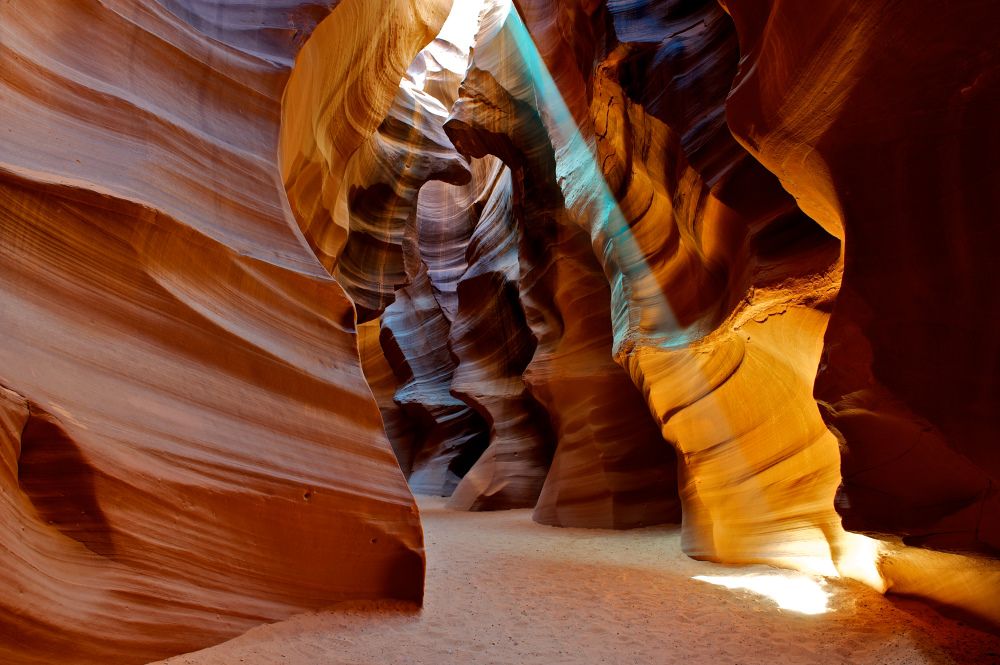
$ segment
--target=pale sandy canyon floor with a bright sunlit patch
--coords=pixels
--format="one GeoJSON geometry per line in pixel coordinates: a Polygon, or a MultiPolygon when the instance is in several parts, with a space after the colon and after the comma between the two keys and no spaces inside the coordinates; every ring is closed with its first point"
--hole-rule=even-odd
{"type": "Polygon", "coordinates": [[[1000,636],[857,583],[680,551],[677,527],[557,529],[529,511],[459,513],[421,499],[422,610],[355,603],[255,628],[170,665],[1000,663],[1000,636]],[[782,609],[730,585],[786,590],[782,609]],[[719,580],[716,580],[719,581],[719,580]]]}

